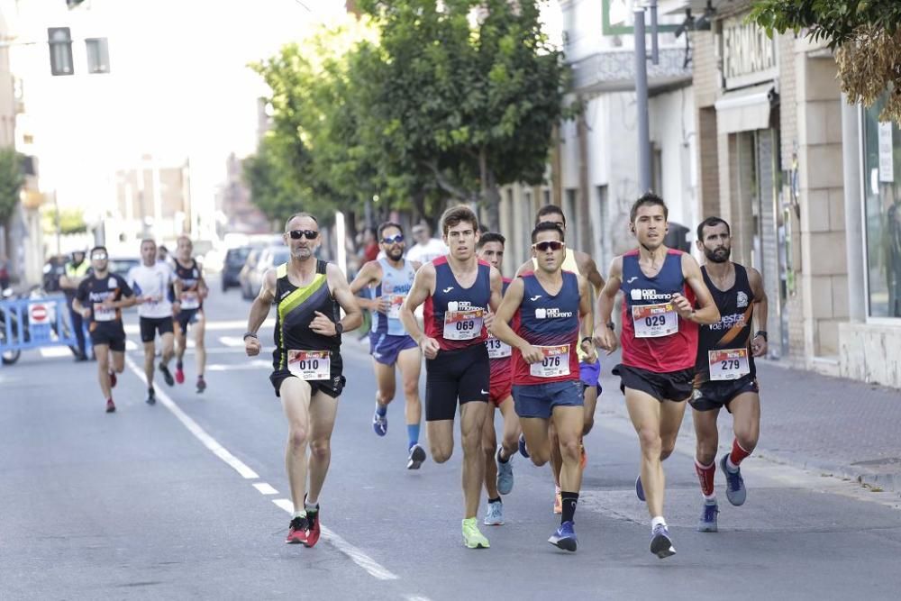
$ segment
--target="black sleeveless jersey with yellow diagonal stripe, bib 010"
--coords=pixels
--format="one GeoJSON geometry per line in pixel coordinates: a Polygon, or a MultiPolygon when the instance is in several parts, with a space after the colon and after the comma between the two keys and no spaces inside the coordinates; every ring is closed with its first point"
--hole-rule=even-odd
{"type": "MultiPolygon", "coordinates": [[[[310,329],[315,312],[325,315],[332,322],[341,320],[341,307],[332,297],[325,276],[323,260],[316,260],[316,275],[304,287],[296,287],[287,278],[287,263],[276,271],[276,350],[272,352],[274,369],[288,369],[288,361],[296,358],[292,351],[328,352],[332,370],[341,369],[341,335],[324,336],[310,329]]],[[[313,379],[313,378],[307,378],[313,379]]],[[[328,379],[324,378],[315,379],[328,379]]]]}

